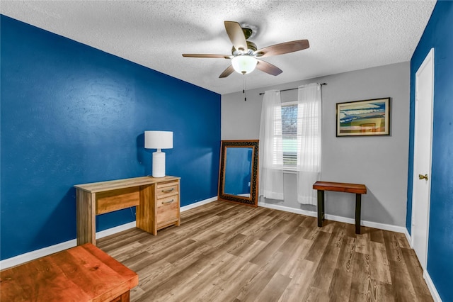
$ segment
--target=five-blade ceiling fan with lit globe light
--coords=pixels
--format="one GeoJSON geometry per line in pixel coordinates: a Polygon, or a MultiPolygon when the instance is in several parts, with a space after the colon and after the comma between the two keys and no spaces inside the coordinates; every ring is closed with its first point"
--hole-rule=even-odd
{"type": "Polygon", "coordinates": [[[285,53],[296,52],[310,47],[309,40],[294,40],[257,50],[255,43],[247,40],[251,37],[253,30],[250,28],[241,28],[241,25],[234,21],[224,21],[224,23],[229,40],[233,43],[231,55],[183,54],[183,57],[231,59],[231,65],[229,65],[229,67],[227,67],[224,72],[220,74],[219,78],[228,77],[234,71],[240,74],[249,74],[253,72],[255,67],[260,69],[262,72],[277,76],[283,72],[282,69],[260,60],[261,57],[283,55],[285,53]]]}

